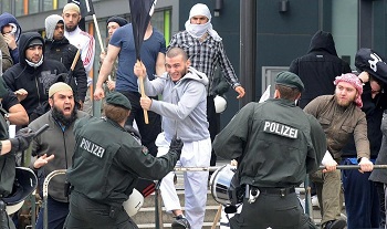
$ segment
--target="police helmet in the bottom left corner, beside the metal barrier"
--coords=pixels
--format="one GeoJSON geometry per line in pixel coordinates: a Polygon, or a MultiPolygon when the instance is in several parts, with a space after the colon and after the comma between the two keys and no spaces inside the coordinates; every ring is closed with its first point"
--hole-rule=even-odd
{"type": "Polygon", "coordinates": [[[38,178],[30,168],[17,167],[12,192],[2,198],[7,205],[7,214],[18,211],[23,206],[24,199],[35,190],[36,185],[38,178]]]}

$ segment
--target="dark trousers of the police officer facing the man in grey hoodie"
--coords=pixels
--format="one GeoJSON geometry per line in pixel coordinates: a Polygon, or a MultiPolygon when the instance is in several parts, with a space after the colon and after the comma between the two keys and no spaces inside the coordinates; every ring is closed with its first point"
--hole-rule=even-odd
{"type": "Polygon", "coordinates": [[[114,209],[111,206],[95,202],[82,194],[72,191],[70,196],[70,214],[64,229],[138,229],[126,214],[124,207],[114,209]]]}

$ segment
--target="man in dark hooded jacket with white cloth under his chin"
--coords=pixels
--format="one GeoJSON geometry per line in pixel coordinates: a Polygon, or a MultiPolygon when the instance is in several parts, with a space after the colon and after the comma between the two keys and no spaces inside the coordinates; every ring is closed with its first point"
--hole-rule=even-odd
{"type": "Polygon", "coordinates": [[[67,70],[62,63],[44,58],[44,40],[38,32],[23,33],[19,45],[20,63],[4,72],[3,80],[32,122],[50,110],[49,89],[63,81],[67,70]]]}

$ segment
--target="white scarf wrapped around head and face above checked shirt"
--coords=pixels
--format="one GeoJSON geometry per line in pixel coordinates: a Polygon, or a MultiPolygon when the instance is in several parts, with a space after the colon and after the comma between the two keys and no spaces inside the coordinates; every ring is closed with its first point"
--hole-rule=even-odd
{"type": "Polygon", "coordinates": [[[221,41],[218,32],[212,29],[211,24],[211,12],[206,4],[197,3],[189,11],[189,18],[186,21],[187,32],[196,39],[201,38],[206,32],[208,32],[216,41],[221,41]],[[206,24],[191,24],[190,20],[195,15],[205,15],[208,18],[206,24]]]}

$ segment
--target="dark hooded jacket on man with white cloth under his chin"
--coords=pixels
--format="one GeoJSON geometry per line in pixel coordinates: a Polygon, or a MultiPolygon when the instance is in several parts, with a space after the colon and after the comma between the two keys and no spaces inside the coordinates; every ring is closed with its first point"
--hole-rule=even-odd
{"type": "Polygon", "coordinates": [[[30,66],[25,61],[25,51],[33,39],[40,39],[42,41],[44,53],[44,40],[38,32],[23,33],[19,41],[20,63],[13,65],[3,74],[3,80],[12,92],[20,89],[24,89],[28,92],[28,96],[20,104],[24,106],[29,116],[36,112],[35,108],[39,105],[46,104],[49,89],[53,83],[59,81],[57,75],[67,73],[66,67],[61,62],[45,60],[44,55],[44,61],[40,66],[30,66]]]}

